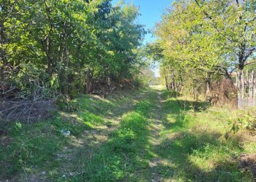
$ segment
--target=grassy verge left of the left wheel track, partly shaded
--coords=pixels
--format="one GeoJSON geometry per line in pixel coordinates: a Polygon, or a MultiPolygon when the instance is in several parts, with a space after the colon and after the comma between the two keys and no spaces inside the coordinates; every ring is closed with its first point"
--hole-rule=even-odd
{"type": "MultiPolygon", "coordinates": [[[[82,96],[78,98],[79,101],[73,101],[78,104],[80,111],[59,112],[52,119],[34,124],[10,123],[7,130],[1,130],[0,161],[3,168],[0,179],[33,180],[33,175],[44,179],[45,176],[41,174],[44,171],[47,171],[48,178],[61,179],[61,165],[69,165],[65,158],[61,158],[64,157],[61,154],[64,146],[72,146],[74,141],[83,137],[85,131],[94,133],[98,127],[113,126],[115,123],[109,119],[110,112],[116,117],[121,116],[129,110],[137,93],[135,91],[126,93],[125,97],[116,95],[108,99],[82,96]],[[124,104],[127,108],[124,108],[124,104]],[[69,130],[70,136],[62,135],[61,130],[69,130]]],[[[129,131],[128,127],[116,133],[126,135],[126,131],[129,131]]]]}

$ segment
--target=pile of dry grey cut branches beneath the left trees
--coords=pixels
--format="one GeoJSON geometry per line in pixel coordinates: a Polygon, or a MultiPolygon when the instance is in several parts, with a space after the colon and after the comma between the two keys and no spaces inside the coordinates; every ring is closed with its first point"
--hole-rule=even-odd
{"type": "Polygon", "coordinates": [[[0,122],[37,122],[50,117],[55,106],[53,100],[48,100],[34,92],[29,97],[20,95],[20,90],[11,84],[0,84],[0,122]]]}

